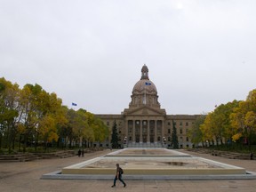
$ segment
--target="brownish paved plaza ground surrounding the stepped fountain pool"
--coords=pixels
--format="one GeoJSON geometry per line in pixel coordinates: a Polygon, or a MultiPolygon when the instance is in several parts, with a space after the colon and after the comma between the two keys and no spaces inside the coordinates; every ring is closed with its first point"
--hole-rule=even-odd
{"type": "MultiPolygon", "coordinates": [[[[114,150],[113,150],[114,151],[114,150]]],[[[42,180],[43,174],[55,172],[63,167],[78,164],[85,160],[104,156],[110,150],[85,154],[84,157],[62,159],[45,159],[33,162],[0,163],[0,191],[186,191],[186,192],[226,192],[256,191],[256,180],[125,180],[127,187],[117,181],[116,188],[111,188],[111,180],[42,180]]],[[[256,172],[255,160],[236,160],[209,154],[185,152],[191,156],[201,156],[224,164],[243,167],[247,171],[256,172]]],[[[124,171],[125,172],[125,171],[124,171]]],[[[113,172],[114,179],[115,171],[113,172]]]]}

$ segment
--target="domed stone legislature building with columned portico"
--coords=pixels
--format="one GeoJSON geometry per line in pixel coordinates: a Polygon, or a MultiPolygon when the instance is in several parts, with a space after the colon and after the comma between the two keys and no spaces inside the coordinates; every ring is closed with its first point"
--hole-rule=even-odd
{"type": "MultiPolygon", "coordinates": [[[[120,148],[172,148],[173,126],[177,130],[180,148],[192,148],[188,130],[197,115],[167,115],[158,102],[156,85],[150,81],[148,67],[141,68],[140,80],[133,86],[129,108],[120,115],[96,115],[111,130],[116,122],[120,148]]],[[[109,138],[100,147],[110,148],[109,138]]],[[[99,145],[99,144],[95,144],[99,145]]]]}

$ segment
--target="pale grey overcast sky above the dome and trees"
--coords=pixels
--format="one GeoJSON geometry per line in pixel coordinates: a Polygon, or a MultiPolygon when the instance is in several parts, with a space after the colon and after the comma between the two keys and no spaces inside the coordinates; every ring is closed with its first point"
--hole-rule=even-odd
{"type": "Polygon", "coordinates": [[[129,107],[148,66],[168,115],[256,87],[255,0],[0,0],[0,77],[95,114],[129,107]]]}

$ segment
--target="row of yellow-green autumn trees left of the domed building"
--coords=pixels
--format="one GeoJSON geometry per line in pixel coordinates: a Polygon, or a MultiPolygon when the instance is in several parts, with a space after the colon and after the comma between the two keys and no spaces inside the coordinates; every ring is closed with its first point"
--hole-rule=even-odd
{"type": "MultiPolygon", "coordinates": [[[[46,92],[39,84],[25,84],[20,90],[0,78],[0,148],[14,148],[19,142],[23,151],[35,146],[39,141],[47,143],[58,141],[69,146],[76,141],[102,142],[109,136],[108,127],[100,118],[80,108],[78,111],[62,106],[57,94],[46,92]],[[64,142],[65,143],[64,143],[64,142]],[[23,144],[21,146],[21,144],[23,144]]],[[[62,145],[61,147],[63,148],[62,145]]]]}

